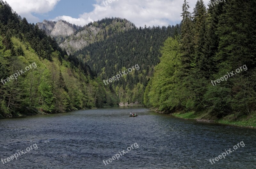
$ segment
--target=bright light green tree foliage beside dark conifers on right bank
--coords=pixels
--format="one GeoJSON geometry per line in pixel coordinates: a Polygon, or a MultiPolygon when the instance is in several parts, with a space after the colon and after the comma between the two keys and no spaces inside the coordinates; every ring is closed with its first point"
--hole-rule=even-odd
{"type": "Polygon", "coordinates": [[[146,89],[150,92],[144,95],[144,103],[149,102],[153,107],[159,107],[161,111],[171,110],[180,104],[180,90],[177,73],[180,71],[180,51],[178,37],[168,38],[164,42],[160,63],[155,67],[155,73],[150,86],[146,89]],[[152,83],[152,84],[151,84],[152,83]]]}

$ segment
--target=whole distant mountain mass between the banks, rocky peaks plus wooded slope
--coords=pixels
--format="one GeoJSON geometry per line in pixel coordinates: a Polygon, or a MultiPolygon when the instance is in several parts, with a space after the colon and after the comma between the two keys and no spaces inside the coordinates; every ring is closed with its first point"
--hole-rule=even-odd
{"type": "Polygon", "coordinates": [[[169,36],[180,34],[178,24],[137,28],[128,20],[120,18],[105,18],[84,27],[63,20],[44,20],[37,25],[56,39],[69,57],[79,58],[83,64],[89,65],[102,81],[138,64],[140,70],[106,86],[115,91],[124,104],[143,104],[145,88],[153,75],[154,66],[160,61],[159,48],[169,36]]]}

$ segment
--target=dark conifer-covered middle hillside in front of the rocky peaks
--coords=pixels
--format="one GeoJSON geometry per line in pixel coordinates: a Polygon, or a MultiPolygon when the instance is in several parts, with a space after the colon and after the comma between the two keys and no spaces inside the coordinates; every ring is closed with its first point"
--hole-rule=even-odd
{"type": "Polygon", "coordinates": [[[154,66],[159,63],[159,48],[168,37],[180,34],[180,25],[168,27],[133,28],[95,42],[74,53],[86,62],[93,71],[108,80],[120,71],[128,72],[137,65],[139,70],[132,71],[118,81],[106,85],[116,91],[123,103],[143,104],[143,94],[154,66]]]}

